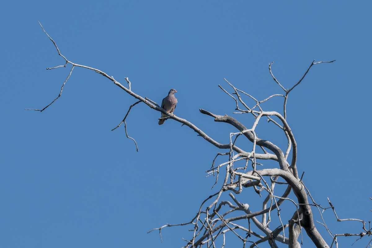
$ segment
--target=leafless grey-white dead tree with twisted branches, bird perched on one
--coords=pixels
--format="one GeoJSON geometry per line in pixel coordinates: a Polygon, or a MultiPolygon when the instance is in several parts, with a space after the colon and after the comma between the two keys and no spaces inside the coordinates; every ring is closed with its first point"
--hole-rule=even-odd
{"type": "MultiPolygon", "coordinates": [[[[41,24],[40,24],[41,25],[41,24]]],[[[42,28],[44,30],[44,28],[42,28]]],[[[45,32],[45,30],[44,30],[45,32]]],[[[363,220],[357,219],[339,219],[336,215],[336,211],[329,201],[330,207],[332,209],[337,220],[355,220],[362,224],[362,232],[357,234],[342,233],[334,234],[327,227],[322,213],[326,208],[317,204],[313,197],[311,196],[309,190],[302,181],[302,176],[299,177],[296,160],[297,160],[297,144],[295,136],[291,131],[289,124],[286,121],[286,104],[288,100],[289,93],[298,86],[301,81],[305,78],[307,73],[310,71],[311,67],[321,63],[331,63],[333,61],[312,61],[307,71],[304,73],[302,78],[295,83],[290,89],[285,89],[279,81],[275,78],[272,73],[272,64],[269,64],[269,73],[271,74],[273,80],[278,84],[278,86],[283,90],[283,94],[274,94],[267,97],[264,100],[256,100],[250,94],[234,87],[226,79],[226,83],[232,89],[230,94],[228,90],[219,85],[221,90],[223,90],[228,97],[230,97],[235,102],[235,114],[246,114],[252,115],[252,123],[248,127],[244,126],[243,123],[239,122],[237,119],[228,115],[217,115],[211,113],[207,110],[200,109],[200,112],[204,115],[213,117],[215,122],[225,122],[237,129],[235,133],[230,133],[230,142],[228,144],[220,144],[219,142],[212,139],[205,132],[195,126],[193,123],[168,113],[166,110],[161,108],[156,102],[146,97],[142,97],[131,90],[131,82],[128,78],[125,78],[128,87],[123,86],[119,81],[115,80],[112,76],[109,76],[103,71],[96,68],[88,67],[86,65],[76,64],[69,61],[64,55],[61,54],[58,49],[57,44],[54,40],[45,32],[48,38],[53,42],[55,48],[57,49],[58,55],[61,56],[65,64],[53,68],[56,69],[60,67],[66,67],[68,64],[72,65],[71,70],[62,84],[60,94],[43,109],[32,109],[36,111],[44,111],[52,103],[57,100],[61,94],[65,83],[70,77],[75,67],[82,67],[88,70],[93,70],[111,80],[114,84],[119,86],[129,95],[133,96],[138,101],[129,107],[123,121],[116,126],[118,128],[123,122],[125,123],[126,117],[130,112],[131,108],[138,103],[144,103],[153,110],[159,111],[166,115],[161,119],[173,119],[183,125],[188,126],[193,129],[199,136],[204,138],[206,141],[214,145],[216,148],[221,149],[213,160],[212,167],[210,170],[206,171],[208,175],[213,175],[215,177],[215,184],[220,185],[219,189],[213,195],[207,197],[200,205],[198,212],[195,217],[187,223],[180,223],[176,225],[164,225],[160,228],[155,228],[151,231],[158,230],[160,232],[164,227],[179,226],[179,225],[190,225],[192,226],[192,235],[189,240],[185,240],[185,247],[224,247],[225,238],[228,233],[232,233],[238,239],[241,240],[242,246],[245,247],[248,243],[250,247],[258,247],[262,242],[268,242],[270,247],[278,247],[276,242],[287,244],[289,247],[301,247],[299,236],[302,235],[302,230],[306,232],[311,241],[316,247],[330,247],[320,235],[318,229],[314,225],[313,210],[319,212],[322,218],[322,225],[328,231],[329,235],[332,236],[333,242],[331,247],[335,245],[337,247],[337,237],[338,236],[360,236],[371,235],[371,229],[367,229],[365,222],[363,220]],[[266,102],[273,97],[283,98],[283,114],[275,111],[264,111],[260,104],[266,102]],[[246,102],[247,99],[253,102],[253,106],[249,106],[246,102]],[[244,99],[244,100],[243,100],[244,99]],[[268,122],[273,123],[278,127],[279,132],[283,132],[286,137],[287,147],[285,150],[279,148],[269,140],[264,140],[258,138],[255,130],[257,124],[266,119],[268,122]],[[251,146],[240,148],[238,147],[238,139],[248,139],[251,146]],[[291,156],[290,156],[291,154],[291,156]],[[215,164],[218,156],[226,156],[224,162],[220,164],[215,164]],[[265,160],[275,161],[276,166],[272,168],[267,168],[262,166],[262,162],[265,160]],[[222,181],[222,183],[221,183],[222,181]],[[217,184],[220,182],[219,184],[217,184]],[[232,201],[222,200],[222,196],[228,193],[232,201]],[[250,206],[247,203],[247,199],[238,199],[239,194],[244,192],[255,192],[263,197],[262,209],[256,212],[250,210],[250,206]],[[290,193],[293,191],[294,197],[290,198],[290,193]],[[280,193],[281,192],[281,193],[280,193]],[[284,215],[280,212],[279,206],[283,202],[290,202],[292,204],[292,209],[287,207],[288,213],[290,215],[284,215]],[[278,223],[280,223],[275,229],[270,229],[270,222],[272,222],[273,212],[276,214],[278,223]],[[259,219],[260,217],[260,219],[259,219]]],[[[31,109],[29,109],[31,110],[31,109]]],[[[116,129],[114,128],[114,129],[116,129]]],[[[126,136],[128,136],[126,125],[125,125],[126,136]]],[[[137,147],[137,143],[135,142],[137,147]]],[[[138,149],[137,149],[138,151],[138,149]]],[[[303,175],[303,174],[302,174],[303,175]]],[[[213,187],[214,187],[213,186],[213,187]]],[[[212,188],[213,188],[212,187],[212,188]]],[[[151,232],[150,231],[150,232],[151,232]]],[[[229,236],[230,237],[230,236],[229,236]]],[[[302,240],[302,238],[301,238],[302,240]]],[[[371,241],[370,241],[371,242],[371,241]]]]}

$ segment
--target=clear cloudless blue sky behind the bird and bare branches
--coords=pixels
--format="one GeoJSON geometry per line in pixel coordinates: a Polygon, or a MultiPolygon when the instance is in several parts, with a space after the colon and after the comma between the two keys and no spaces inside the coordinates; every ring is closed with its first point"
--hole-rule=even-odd
{"type": "MultiPolygon", "coordinates": [[[[110,131],[135,99],[93,71],[75,68],[60,99],[42,113],[26,111],[57,97],[70,70],[45,70],[64,61],[38,21],[68,60],[124,85],[129,77],[141,96],[160,104],[176,88],[175,114],[221,143],[235,130],[199,109],[232,115],[234,101],[218,87],[232,92],[224,78],[262,100],[283,94],[270,62],[290,88],[314,59],[336,59],[314,65],[289,96],[298,170],[316,201],[328,206],[330,197],[340,218],[372,219],[370,1],[1,5],[1,247],[182,247],[191,237],[187,227],[163,229],[163,243],[147,232],[188,222],[215,193],[205,171],[221,151],[173,120],[158,126],[160,113],[138,104],[127,119],[136,152],[124,126],[110,131]]],[[[262,107],[282,111],[280,99],[262,107]]],[[[246,126],[254,121],[236,117],[246,126]]],[[[264,121],[257,131],[285,147],[278,133],[264,121]]],[[[241,197],[251,206],[260,202],[254,192],[241,197]]],[[[337,223],[330,210],[323,215],[334,233],[362,231],[359,223],[337,223]]]]}

